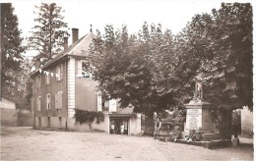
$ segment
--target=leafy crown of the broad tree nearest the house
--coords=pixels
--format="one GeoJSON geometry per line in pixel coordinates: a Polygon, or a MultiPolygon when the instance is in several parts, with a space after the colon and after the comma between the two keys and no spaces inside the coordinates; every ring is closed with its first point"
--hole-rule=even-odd
{"type": "Polygon", "coordinates": [[[99,90],[119,98],[121,107],[133,105],[135,112],[147,113],[172,101],[171,95],[165,96],[158,89],[160,64],[156,61],[160,43],[164,42],[160,29],[160,25],[149,28],[145,23],[138,34],[130,37],[125,26],[117,31],[106,26],[102,36],[97,32],[91,48],[92,72],[99,81],[99,90]]]}

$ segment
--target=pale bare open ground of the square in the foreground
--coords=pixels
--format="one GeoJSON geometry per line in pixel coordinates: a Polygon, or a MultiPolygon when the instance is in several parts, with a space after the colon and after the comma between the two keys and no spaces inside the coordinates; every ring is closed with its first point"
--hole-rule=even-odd
{"type": "Polygon", "coordinates": [[[148,136],[1,128],[1,160],[245,161],[253,160],[253,148],[243,145],[211,150],[148,136]]]}

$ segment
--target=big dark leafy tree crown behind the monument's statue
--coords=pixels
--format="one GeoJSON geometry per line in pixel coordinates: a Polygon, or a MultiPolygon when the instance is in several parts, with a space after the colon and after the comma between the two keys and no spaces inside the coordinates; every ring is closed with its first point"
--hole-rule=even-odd
{"type": "Polygon", "coordinates": [[[179,62],[174,71],[184,99],[193,95],[190,84],[200,76],[207,100],[218,106],[252,109],[250,4],[223,3],[211,15],[196,15],[176,39],[179,62]]]}

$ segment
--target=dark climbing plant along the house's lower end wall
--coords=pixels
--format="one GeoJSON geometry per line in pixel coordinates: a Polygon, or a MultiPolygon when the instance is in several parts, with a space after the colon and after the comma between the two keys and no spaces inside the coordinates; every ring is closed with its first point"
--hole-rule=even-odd
{"type": "Polygon", "coordinates": [[[75,118],[76,123],[89,123],[90,125],[96,120],[96,124],[99,124],[104,121],[104,115],[102,112],[96,112],[96,111],[87,111],[87,110],[80,110],[75,109],[75,118]]]}

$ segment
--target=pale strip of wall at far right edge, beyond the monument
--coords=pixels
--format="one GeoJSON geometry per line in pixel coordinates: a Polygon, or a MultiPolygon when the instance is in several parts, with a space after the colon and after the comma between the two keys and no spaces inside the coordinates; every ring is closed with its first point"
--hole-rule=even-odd
{"type": "Polygon", "coordinates": [[[241,135],[253,136],[253,113],[246,107],[241,110],[241,135]]]}

